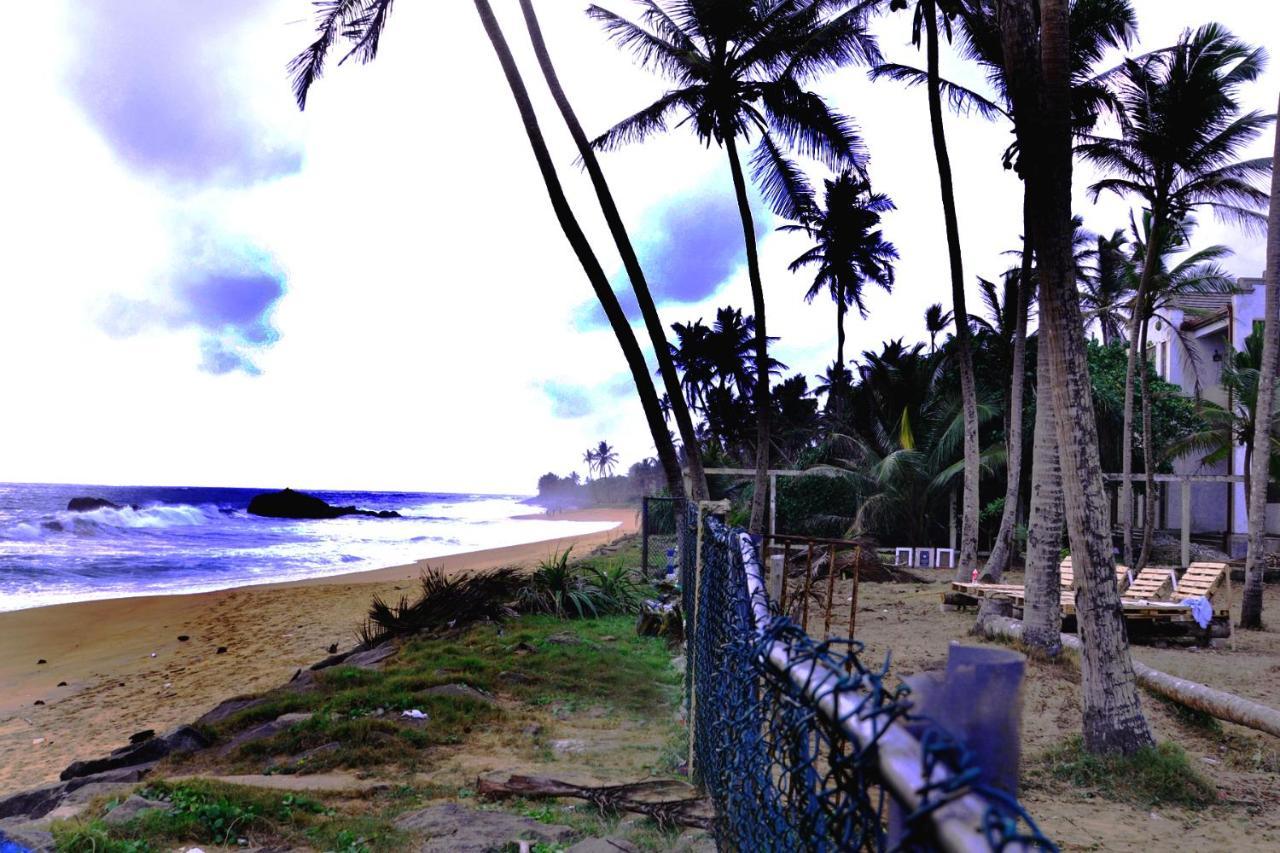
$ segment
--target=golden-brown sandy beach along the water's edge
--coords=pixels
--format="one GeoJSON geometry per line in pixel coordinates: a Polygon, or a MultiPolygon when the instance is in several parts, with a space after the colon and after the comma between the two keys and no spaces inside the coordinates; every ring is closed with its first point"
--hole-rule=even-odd
{"type": "Polygon", "coordinates": [[[352,646],[370,598],[413,594],[428,565],[530,566],[568,544],[585,552],[632,533],[637,516],[620,508],[556,517],[617,526],[293,583],[0,613],[0,794],[52,781],[73,760],[104,754],[134,731],[163,731],[288,680],[330,644],[352,646]]]}

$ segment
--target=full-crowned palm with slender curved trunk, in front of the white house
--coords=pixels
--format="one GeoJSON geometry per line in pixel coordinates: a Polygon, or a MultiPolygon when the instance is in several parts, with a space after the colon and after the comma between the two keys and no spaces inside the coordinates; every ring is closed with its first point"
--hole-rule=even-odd
{"type": "Polygon", "coordinates": [[[1111,173],[1094,183],[1103,192],[1139,199],[1151,211],[1153,240],[1147,242],[1129,323],[1125,374],[1125,426],[1121,456],[1121,525],[1125,560],[1133,565],[1133,406],[1140,355],[1138,318],[1157,265],[1153,252],[1162,232],[1197,207],[1247,227],[1262,223],[1267,193],[1254,182],[1270,174],[1270,158],[1240,160],[1240,154],[1271,117],[1242,114],[1240,85],[1257,79],[1266,54],[1238,40],[1220,24],[1184,31],[1169,50],[1126,60],[1115,74],[1123,120],[1119,137],[1092,136],[1079,146],[1091,163],[1111,173]]]}

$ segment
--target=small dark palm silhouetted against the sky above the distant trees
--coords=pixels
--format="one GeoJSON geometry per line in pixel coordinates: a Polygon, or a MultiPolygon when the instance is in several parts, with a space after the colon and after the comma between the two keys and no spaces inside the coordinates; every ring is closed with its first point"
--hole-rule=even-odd
{"type": "Polygon", "coordinates": [[[881,214],[893,210],[893,202],[881,192],[872,192],[870,181],[846,170],[835,181],[826,181],[824,204],[804,213],[800,224],[783,225],[782,231],[804,231],[814,246],[791,261],[792,273],[810,265],[818,274],[805,292],[813,302],[822,291],[836,304],[836,364],[845,364],[845,311],[856,306],[867,319],[863,287],[879,284],[893,289],[893,261],[897,250],[879,231],[881,214]]]}

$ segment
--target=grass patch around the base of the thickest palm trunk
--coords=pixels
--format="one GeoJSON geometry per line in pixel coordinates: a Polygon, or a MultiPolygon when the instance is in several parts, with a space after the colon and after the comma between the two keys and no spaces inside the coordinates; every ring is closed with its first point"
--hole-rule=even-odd
{"type": "Polygon", "coordinates": [[[1181,747],[1167,742],[1134,756],[1110,757],[1087,752],[1084,740],[1076,735],[1041,754],[1033,774],[1033,783],[1047,777],[1051,783],[1144,807],[1217,802],[1213,784],[1192,766],[1181,747]]]}

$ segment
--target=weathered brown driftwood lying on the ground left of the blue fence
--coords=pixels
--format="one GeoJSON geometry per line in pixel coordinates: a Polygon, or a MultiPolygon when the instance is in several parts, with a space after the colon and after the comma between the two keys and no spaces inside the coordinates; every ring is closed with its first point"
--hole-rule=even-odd
{"type": "Polygon", "coordinates": [[[658,826],[710,829],[713,809],[704,797],[689,797],[690,786],[681,781],[641,781],[626,785],[575,785],[547,776],[508,776],[506,780],[476,780],[480,797],[573,797],[593,803],[600,813],[635,812],[648,815],[658,826]],[[672,798],[672,795],[676,798],[672,798]],[[680,794],[685,794],[680,797],[680,794]],[[666,797],[666,799],[657,799],[666,797]]]}

